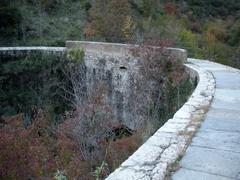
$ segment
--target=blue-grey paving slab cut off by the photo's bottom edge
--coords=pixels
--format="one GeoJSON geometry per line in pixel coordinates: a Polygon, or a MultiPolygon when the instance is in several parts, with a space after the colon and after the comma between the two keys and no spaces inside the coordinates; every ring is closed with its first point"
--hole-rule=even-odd
{"type": "Polygon", "coordinates": [[[173,175],[173,180],[234,180],[233,178],[208,174],[205,172],[200,171],[193,171],[190,169],[182,168],[182,170],[178,173],[173,175]],[[194,177],[194,179],[193,179],[194,177]]]}

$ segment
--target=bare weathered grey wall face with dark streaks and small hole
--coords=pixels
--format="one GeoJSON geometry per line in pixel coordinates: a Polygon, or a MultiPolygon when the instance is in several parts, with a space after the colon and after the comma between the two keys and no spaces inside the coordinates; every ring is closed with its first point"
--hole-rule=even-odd
{"type": "Polygon", "coordinates": [[[80,46],[85,50],[87,89],[105,83],[106,102],[110,105],[118,124],[136,130],[143,117],[134,113],[134,80],[139,74],[138,59],[129,53],[129,46],[117,43],[67,41],[67,48],[80,46]]]}

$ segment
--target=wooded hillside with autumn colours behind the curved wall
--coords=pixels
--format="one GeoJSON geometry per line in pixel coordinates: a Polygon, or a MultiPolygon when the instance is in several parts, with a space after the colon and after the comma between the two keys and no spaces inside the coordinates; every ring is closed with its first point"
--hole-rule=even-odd
{"type": "Polygon", "coordinates": [[[1,1],[0,45],[170,39],[190,56],[239,67],[238,0],[1,1]]]}

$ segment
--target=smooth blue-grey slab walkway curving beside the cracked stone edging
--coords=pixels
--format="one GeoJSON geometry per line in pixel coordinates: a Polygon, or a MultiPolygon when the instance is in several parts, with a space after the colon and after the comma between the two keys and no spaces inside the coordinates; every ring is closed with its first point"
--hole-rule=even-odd
{"type": "Polygon", "coordinates": [[[189,59],[216,78],[216,92],[201,128],[173,180],[240,180],[240,71],[189,59]]]}

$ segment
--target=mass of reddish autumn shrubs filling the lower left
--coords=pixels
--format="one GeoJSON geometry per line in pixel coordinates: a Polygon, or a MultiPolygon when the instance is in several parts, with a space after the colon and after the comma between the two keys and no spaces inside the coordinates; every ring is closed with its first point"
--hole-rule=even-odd
{"type": "MultiPolygon", "coordinates": [[[[20,114],[5,119],[1,126],[0,179],[50,179],[57,170],[64,171],[69,179],[94,179],[92,171],[102,161],[107,161],[114,169],[133,153],[139,142],[134,140],[135,136],[117,140],[111,146],[103,140],[101,151],[105,153],[108,148],[107,159],[99,156],[93,162],[85,161],[78,142],[68,137],[65,131],[59,133],[57,127],[52,127],[43,112],[38,113],[27,129],[23,128],[22,122],[23,115],[20,114]]],[[[70,130],[68,128],[72,126],[64,123],[61,127],[70,130]]]]}

